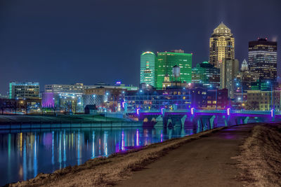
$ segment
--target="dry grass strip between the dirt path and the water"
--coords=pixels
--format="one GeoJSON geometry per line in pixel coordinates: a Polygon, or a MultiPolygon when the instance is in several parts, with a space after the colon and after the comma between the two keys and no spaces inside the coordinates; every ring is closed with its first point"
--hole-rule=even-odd
{"type": "Polygon", "coordinates": [[[179,139],[170,139],[126,153],[115,153],[108,158],[94,158],[83,165],[65,167],[52,174],[38,174],[34,179],[11,183],[8,186],[112,186],[128,178],[131,172],[142,169],[150,162],[161,158],[168,151],[221,129],[223,127],[179,139]]]}

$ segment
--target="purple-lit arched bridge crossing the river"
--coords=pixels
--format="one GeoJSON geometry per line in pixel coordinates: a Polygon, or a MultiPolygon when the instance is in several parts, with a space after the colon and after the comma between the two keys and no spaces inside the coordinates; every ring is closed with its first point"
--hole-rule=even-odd
{"type": "Polygon", "coordinates": [[[126,111],[142,120],[144,125],[151,127],[181,127],[191,128],[198,132],[209,130],[214,127],[240,125],[245,123],[259,123],[281,120],[280,111],[246,111],[232,110],[202,110],[202,109],[181,109],[181,110],[142,110],[126,111]]]}

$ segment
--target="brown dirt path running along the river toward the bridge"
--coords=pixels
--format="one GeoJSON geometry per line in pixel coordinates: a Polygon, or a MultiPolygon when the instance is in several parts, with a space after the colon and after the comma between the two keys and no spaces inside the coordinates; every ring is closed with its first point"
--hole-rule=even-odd
{"type": "Polygon", "coordinates": [[[232,157],[254,125],[230,127],[170,151],[117,186],[242,186],[232,157]]]}

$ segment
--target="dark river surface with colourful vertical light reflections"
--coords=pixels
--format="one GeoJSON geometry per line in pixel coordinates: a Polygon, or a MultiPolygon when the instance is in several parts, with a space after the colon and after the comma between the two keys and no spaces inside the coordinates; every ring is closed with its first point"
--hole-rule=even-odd
{"type": "Polygon", "coordinates": [[[145,146],[187,134],[192,130],[127,127],[0,132],[0,186],[31,179],[40,172],[81,165],[129,146],[145,146]]]}

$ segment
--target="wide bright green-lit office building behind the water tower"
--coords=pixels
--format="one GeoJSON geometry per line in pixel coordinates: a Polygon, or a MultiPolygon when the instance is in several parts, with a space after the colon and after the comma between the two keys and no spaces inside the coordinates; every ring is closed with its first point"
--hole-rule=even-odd
{"type": "Polygon", "coordinates": [[[155,63],[155,87],[162,89],[165,76],[169,76],[170,81],[181,81],[191,83],[192,78],[192,54],[183,53],[183,50],[157,53],[155,63]],[[173,80],[173,67],[178,65],[181,68],[179,80],[173,80]]]}

